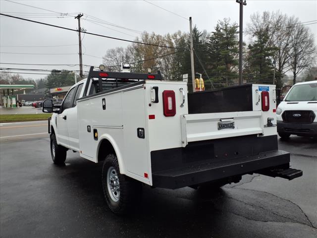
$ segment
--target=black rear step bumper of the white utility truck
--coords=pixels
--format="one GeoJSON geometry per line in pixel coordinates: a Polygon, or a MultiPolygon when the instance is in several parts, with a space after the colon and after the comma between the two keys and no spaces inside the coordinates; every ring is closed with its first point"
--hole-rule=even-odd
{"type": "Polygon", "coordinates": [[[282,150],[235,158],[152,174],[153,186],[176,189],[237,175],[258,173],[271,177],[295,179],[303,172],[289,168],[290,154],[282,150]]]}

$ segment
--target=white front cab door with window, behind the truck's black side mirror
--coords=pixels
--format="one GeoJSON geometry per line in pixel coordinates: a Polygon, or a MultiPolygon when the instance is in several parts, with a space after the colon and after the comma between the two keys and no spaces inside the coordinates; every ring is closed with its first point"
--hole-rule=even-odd
{"type": "Polygon", "coordinates": [[[69,145],[68,128],[67,128],[68,110],[69,108],[72,108],[75,92],[76,92],[76,87],[73,87],[68,91],[60,107],[60,112],[57,115],[57,123],[56,123],[57,141],[58,141],[58,144],[62,144],[66,147],[68,147],[69,145]]]}

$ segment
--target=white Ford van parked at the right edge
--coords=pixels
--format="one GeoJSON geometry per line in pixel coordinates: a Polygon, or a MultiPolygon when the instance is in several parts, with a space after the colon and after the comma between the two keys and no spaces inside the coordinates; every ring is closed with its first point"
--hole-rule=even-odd
{"type": "Polygon", "coordinates": [[[317,80],[296,83],[276,109],[277,132],[317,138],[317,80]]]}

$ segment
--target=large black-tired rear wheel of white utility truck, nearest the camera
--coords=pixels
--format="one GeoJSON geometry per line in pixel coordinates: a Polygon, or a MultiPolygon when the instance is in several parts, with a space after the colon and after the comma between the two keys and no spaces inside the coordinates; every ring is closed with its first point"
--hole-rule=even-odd
{"type": "Polygon", "coordinates": [[[102,182],[107,205],[113,213],[119,215],[127,214],[139,203],[141,198],[141,183],[120,174],[117,157],[114,154],[106,156],[102,171],[102,182]],[[115,170],[115,173],[113,170],[115,170]],[[108,173],[110,177],[113,176],[116,180],[108,179],[108,173]],[[117,180],[119,182],[119,193],[116,190],[117,188],[114,188],[117,180]],[[111,185],[114,189],[112,192],[110,191],[111,185]]]}

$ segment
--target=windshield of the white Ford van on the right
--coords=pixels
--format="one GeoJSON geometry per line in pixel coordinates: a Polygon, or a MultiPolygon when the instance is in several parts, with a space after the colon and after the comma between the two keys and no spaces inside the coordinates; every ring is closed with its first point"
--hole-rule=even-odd
{"type": "Polygon", "coordinates": [[[285,101],[317,101],[317,83],[300,84],[292,87],[285,101]]]}

